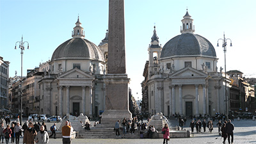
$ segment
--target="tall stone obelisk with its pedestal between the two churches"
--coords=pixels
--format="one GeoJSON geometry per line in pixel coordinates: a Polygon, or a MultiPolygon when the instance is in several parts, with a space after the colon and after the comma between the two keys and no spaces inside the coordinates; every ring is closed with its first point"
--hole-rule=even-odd
{"type": "Polygon", "coordinates": [[[125,68],[124,0],[109,0],[108,74],[106,105],[102,125],[113,127],[116,120],[131,118],[128,100],[128,83],[125,68]]]}

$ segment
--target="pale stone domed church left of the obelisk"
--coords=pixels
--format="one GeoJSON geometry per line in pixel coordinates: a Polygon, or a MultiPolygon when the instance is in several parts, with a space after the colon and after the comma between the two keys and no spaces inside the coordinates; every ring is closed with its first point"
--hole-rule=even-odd
{"type": "Polygon", "coordinates": [[[99,115],[105,106],[108,31],[99,47],[84,38],[79,17],[72,38],[58,46],[40,84],[40,113],[99,115]]]}

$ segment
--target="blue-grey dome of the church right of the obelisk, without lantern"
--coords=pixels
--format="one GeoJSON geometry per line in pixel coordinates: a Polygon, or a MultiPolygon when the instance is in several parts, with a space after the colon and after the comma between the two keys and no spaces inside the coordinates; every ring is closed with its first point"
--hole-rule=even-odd
{"type": "Polygon", "coordinates": [[[216,58],[211,42],[200,35],[183,33],[169,40],[163,47],[160,58],[180,56],[207,56],[216,58]]]}

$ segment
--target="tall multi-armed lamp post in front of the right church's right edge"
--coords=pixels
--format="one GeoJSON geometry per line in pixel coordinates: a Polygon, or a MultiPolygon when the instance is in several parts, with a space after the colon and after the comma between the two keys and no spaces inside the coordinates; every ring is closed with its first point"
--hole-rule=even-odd
{"type": "MultiPolygon", "coordinates": [[[[219,40],[222,40],[222,47],[223,47],[223,52],[224,52],[224,57],[225,57],[225,99],[226,99],[226,113],[225,115],[228,118],[228,95],[227,95],[227,72],[226,72],[226,52],[227,52],[227,40],[230,40],[230,38],[225,38],[225,33],[223,33],[223,39],[219,38],[218,39],[218,44],[217,47],[219,46],[219,40]]],[[[232,47],[232,41],[230,40],[230,47],[232,47]]]]}

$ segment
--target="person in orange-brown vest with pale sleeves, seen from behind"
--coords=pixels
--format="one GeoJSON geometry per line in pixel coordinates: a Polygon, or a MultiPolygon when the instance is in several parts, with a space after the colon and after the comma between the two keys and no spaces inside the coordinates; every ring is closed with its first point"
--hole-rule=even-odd
{"type": "Polygon", "coordinates": [[[63,144],[71,144],[72,142],[72,132],[73,127],[71,126],[70,122],[66,121],[65,125],[61,128],[62,130],[62,142],[63,144]]]}

